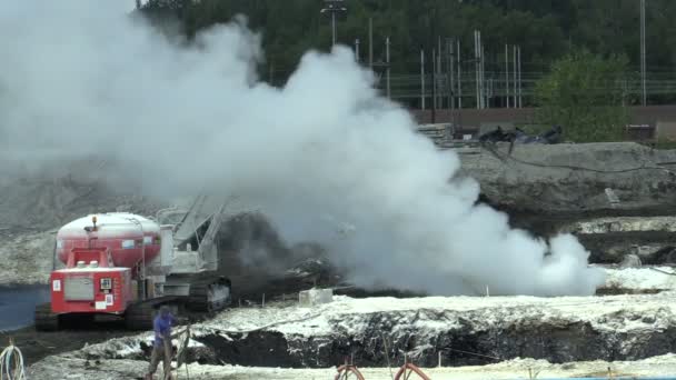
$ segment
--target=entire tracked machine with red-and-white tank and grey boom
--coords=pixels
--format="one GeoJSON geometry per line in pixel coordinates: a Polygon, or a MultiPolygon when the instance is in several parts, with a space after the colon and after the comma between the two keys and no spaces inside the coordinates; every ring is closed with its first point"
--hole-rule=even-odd
{"type": "Polygon", "coordinates": [[[228,203],[202,196],[187,212],[97,213],[63,226],[54,249],[54,263],[63,268],[54,264],[51,301],[36,308],[36,328],[57,330],[69,318],[115,314],[140,330],[151,328],[162,304],[196,312],[225,308],[231,284],[218,274],[215,239],[228,203]],[[182,213],[179,223],[162,223],[176,213],[182,213]]]}

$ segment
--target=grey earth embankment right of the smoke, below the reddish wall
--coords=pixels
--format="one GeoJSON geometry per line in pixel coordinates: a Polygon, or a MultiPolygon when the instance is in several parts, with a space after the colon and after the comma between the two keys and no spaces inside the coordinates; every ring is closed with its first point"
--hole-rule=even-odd
{"type": "Polygon", "coordinates": [[[590,261],[674,263],[676,150],[634,142],[459,149],[481,201],[538,236],[573,232],[590,261]]]}

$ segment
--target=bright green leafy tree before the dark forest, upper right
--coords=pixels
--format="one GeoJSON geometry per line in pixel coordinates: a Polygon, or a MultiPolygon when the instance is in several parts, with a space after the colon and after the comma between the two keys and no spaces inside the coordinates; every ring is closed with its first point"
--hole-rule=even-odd
{"type": "Polygon", "coordinates": [[[571,141],[617,141],[628,122],[625,57],[604,58],[586,50],[557,60],[536,83],[538,120],[564,127],[571,141]]]}

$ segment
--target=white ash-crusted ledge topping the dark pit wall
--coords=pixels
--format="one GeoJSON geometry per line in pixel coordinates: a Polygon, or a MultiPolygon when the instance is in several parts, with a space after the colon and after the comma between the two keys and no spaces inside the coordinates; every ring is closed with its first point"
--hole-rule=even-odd
{"type": "MultiPolygon", "coordinates": [[[[475,331],[509,324],[589,323],[594,329],[627,332],[664,329],[676,323],[676,294],[594,297],[426,297],[366,298],[335,297],[314,308],[268,306],[239,308],[218,314],[193,330],[196,337],[251,330],[277,331],[291,340],[362,334],[377,318],[389,322],[391,334],[418,330],[418,338],[470,323],[475,331]],[[652,318],[635,318],[646,316],[652,318]],[[625,318],[626,317],[626,318],[625,318]]],[[[676,324],[674,324],[676,326],[676,324]]]]}

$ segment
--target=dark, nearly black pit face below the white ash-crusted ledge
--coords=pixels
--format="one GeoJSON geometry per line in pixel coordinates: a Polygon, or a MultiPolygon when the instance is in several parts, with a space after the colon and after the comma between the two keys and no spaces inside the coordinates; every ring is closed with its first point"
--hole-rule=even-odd
{"type": "MultiPolygon", "coordinates": [[[[653,320],[653,317],[629,318],[645,323],[653,320]]],[[[551,324],[514,323],[476,331],[471,328],[471,321],[459,319],[459,328],[436,333],[431,338],[420,339],[415,329],[394,339],[385,333],[385,339],[389,340],[386,351],[382,331],[394,328],[392,324],[377,316],[371,316],[367,323],[368,328],[359,338],[310,338],[302,343],[274,331],[227,338],[209,334],[198,341],[211,354],[202,353],[199,356],[202,360],[198,361],[202,364],[227,362],[248,367],[326,368],[354,358],[364,367],[387,367],[388,360],[401,362],[402,352],[412,352],[409,359],[419,366],[434,367],[441,353],[446,366],[456,367],[490,364],[514,358],[545,359],[555,363],[637,360],[676,349],[674,326],[659,331],[615,333],[600,332],[589,322],[560,321],[551,324]]]]}

